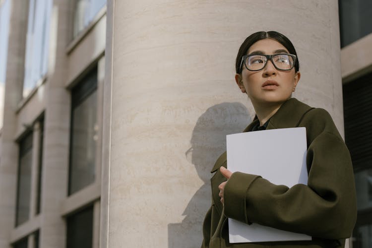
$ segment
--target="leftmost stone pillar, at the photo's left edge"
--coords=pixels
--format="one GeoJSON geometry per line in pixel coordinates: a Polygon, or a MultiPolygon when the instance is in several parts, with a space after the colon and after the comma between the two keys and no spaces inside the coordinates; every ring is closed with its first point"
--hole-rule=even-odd
{"type": "Polygon", "coordinates": [[[8,59],[0,161],[0,248],[9,248],[15,225],[18,145],[14,141],[16,110],[22,99],[28,1],[10,2],[8,59]]]}

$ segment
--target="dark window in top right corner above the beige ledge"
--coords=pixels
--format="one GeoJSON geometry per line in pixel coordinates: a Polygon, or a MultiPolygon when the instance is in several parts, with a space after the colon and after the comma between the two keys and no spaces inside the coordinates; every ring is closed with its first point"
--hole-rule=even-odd
{"type": "Polygon", "coordinates": [[[339,0],[341,47],[372,33],[371,0],[339,0]]]}

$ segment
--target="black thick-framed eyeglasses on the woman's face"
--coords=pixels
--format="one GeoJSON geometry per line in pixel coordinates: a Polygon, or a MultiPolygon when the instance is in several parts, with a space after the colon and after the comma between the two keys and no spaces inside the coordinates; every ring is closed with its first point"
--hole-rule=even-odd
{"type": "Polygon", "coordinates": [[[278,70],[291,70],[295,66],[296,55],[293,54],[273,54],[273,55],[245,55],[240,63],[240,71],[242,71],[242,64],[251,71],[262,70],[267,61],[271,61],[278,70]]]}

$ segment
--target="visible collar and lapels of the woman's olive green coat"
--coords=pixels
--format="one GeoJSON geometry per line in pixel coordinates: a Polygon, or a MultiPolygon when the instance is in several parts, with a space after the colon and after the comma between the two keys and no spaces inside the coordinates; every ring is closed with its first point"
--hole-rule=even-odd
{"type": "MultiPolygon", "coordinates": [[[[277,129],[277,128],[288,128],[297,127],[303,116],[309,112],[311,108],[309,105],[300,102],[296,98],[288,99],[279,110],[270,118],[269,124],[267,124],[266,129],[277,129]]],[[[254,117],[251,124],[249,124],[243,132],[249,132],[252,130],[253,126],[258,123],[257,116],[254,117]]],[[[226,152],[217,159],[211,173],[217,171],[221,166],[226,167],[226,152]]]]}

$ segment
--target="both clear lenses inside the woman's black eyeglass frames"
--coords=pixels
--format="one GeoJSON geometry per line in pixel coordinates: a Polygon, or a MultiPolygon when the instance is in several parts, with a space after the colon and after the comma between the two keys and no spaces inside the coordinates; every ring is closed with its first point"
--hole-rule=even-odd
{"type": "MultiPolygon", "coordinates": [[[[294,59],[285,54],[273,55],[271,61],[274,65],[281,70],[290,70],[293,68],[294,59]]],[[[267,62],[267,58],[262,55],[251,55],[246,59],[248,70],[260,70],[267,62]]]]}

